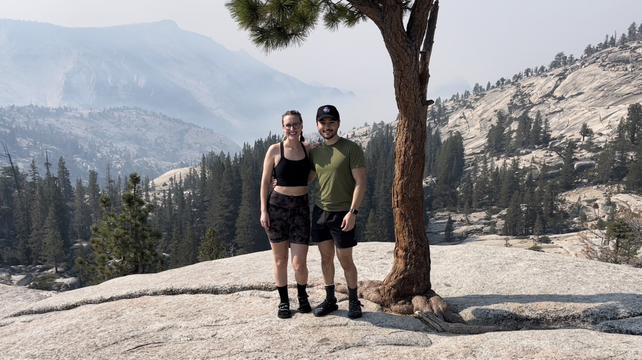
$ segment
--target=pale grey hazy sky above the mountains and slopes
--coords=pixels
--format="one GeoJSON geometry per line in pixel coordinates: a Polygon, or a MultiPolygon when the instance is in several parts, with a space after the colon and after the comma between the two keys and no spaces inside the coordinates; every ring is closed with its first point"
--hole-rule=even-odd
{"type": "MultiPolygon", "coordinates": [[[[319,28],[302,47],[265,55],[238,30],[225,0],[0,0],[0,18],[62,26],[114,26],[171,19],[231,50],[245,49],[274,69],[306,83],[353,91],[384,119],[397,110],[392,66],[381,34],[366,22],[334,33],[319,28]]],[[[442,0],[431,59],[429,94],[449,96],[466,86],[548,65],[555,53],[579,57],[587,44],[642,21],[642,1],[442,0]]],[[[366,119],[367,120],[367,119],[366,119]]]]}

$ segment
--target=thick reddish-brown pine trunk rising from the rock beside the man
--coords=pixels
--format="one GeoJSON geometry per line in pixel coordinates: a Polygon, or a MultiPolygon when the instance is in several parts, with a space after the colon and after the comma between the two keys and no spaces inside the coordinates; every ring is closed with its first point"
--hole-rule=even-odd
{"type": "Polygon", "coordinates": [[[409,298],[412,295],[426,294],[431,289],[430,252],[422,214],[428,102],[419,85],[421,41],[409,45],[405,37],[382,33],[392,59],[399,108],[392,185],[394,263],[380,288],[383,302],[390,306],[400,300],[412,300],[409,298]]]}

